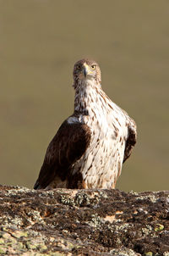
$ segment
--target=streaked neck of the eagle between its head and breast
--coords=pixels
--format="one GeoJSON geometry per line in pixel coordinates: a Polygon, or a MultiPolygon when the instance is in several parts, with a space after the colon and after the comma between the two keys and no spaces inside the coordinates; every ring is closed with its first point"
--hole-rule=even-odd
{"type": "MultiPolygon", "coordinates": [[[[89,115],[91,109],[99,103],[101,85],[94,81],[82,81],[75,86],[74,113],[89,115]]],[[[99,107],[99,105],[98,105],[99,107]]]]}

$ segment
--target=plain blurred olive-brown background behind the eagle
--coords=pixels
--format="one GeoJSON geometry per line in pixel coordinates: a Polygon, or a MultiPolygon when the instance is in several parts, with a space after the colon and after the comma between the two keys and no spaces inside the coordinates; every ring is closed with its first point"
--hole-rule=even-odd
{"type": "Polygon", "coordinates": [[[0,183],[32,187],[74,110],[72,70],[101,66],[102,87],[138,125],[117,188],[169,184],[169,2],[0,0],[0,183]]]}

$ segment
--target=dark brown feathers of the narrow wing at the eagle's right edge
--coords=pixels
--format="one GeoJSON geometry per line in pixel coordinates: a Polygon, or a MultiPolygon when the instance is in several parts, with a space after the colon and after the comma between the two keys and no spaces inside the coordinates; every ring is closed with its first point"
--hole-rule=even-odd
{"type": "Polygon", "coordinates": [[[129,158],[130,154],[132,153],[132,150],[136,143],[136,139],[137,139],[136,130],[134,129],[133,126],[129,125],[128,126],[128,139],[126,141],[123,163],[129,158]]]}

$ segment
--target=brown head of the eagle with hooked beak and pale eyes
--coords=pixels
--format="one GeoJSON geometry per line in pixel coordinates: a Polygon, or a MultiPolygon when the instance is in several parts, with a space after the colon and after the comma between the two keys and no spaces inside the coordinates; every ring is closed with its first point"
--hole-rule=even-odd
{"type": "Polygon", "coordinates": [[[94,81],[101,85],[101,70],[99,65],[88,58],[80,59],[74,64],[74,87],[77,84],[83,84],[84,81],[94,81]]]}

